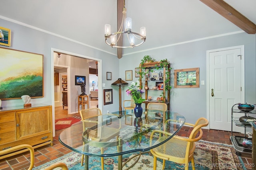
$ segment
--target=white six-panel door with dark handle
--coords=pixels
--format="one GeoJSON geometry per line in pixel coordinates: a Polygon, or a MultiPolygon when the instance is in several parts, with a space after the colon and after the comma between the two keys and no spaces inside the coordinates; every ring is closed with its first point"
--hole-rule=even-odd
{"type": "MultiPolygon", "coordinates": [[[[231,131],[232,106],[243,102],[242,51],[236,48],[208,53],[210,129],[231,131]]],[[[233,123],[233,131],[240,132],[241,128],[233,123]]]]}

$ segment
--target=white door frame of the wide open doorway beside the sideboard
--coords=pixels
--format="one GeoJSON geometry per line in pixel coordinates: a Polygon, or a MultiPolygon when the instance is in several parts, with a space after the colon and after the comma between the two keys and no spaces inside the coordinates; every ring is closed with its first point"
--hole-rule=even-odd
{"type": "MultiPolygon", "coordinates": [[[[51,80],[52,80],[52,134],[53,134],[53,137],[55,137],[55,109],[54,109],[54,52],[60,52],[60,53],[64,53],[66,55],[71,55],[71,56],[74,56],[74,57],[81,57],[81,58],[84,58],[84,59],[90,59],[90,60],[95,60],[95,61],[98,61],[98,96],[102,96],[103,95],[103,92],[102,92],[102,59],[96,59],[96,58],[93,58],[93,57],[88,57],[88,56],[85,56],[85,55],[80,55],[80,54],[77,54],[77,53],[72,53],[72,52],[69,52],[69,51],[64,51],[64,50],[61,50],[61,49],[55,49],[55,48],[51,48],[51,80]]],[[[68,77],[70,78],[70,70],[67,70],[67,74],[68,74],[68,77]]],[[[70,83],[70,81],[68,81],[68,83],[70,83]]],[[[70,87],[70,86],[68,86],[70,87]]],[[[70,90],[69,90],[70,91],[70,90]]],[[[103,103],[103,100],[102,98],[98,98],[98,108],[102,110],[102,103],[103,103]]],[[[68,105],[70,105],[70,100],[69,100],[69,97],[68,97],[68,105]]]]}

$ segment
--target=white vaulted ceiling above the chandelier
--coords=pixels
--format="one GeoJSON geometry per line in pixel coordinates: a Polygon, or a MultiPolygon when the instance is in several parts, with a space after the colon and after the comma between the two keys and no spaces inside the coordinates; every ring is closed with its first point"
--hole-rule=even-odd
{"type": "MultiPolygon", "coordinates": [[[[225,2],[256,23],[256,0],[225,2]]],[[[116,48],[105,43],[104,25],[109,23],[111,32],[117,31],[117,0],[0,0],[0,3],[2,19],[116,55],[116,48]]],[[[132,18],[132,31],[146,27],[146,42],[123,49],[123,55],[241,31],[200,0],[126,0],[125,4],[127,17],[132,18]]]]}

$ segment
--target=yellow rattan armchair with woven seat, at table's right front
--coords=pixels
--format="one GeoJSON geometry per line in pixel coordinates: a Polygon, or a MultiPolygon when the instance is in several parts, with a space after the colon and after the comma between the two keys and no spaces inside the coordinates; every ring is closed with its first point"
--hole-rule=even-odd
{"type": "MultiPolygon", "coordinates": [[[[169,121],[169,119],[167,121],[169,121]]],[[[166,143],[154,149],[151,149],[150,152],[154,155],[153,169],[156,170],[156,159],[160,158],[163,160],[162,169],[164,169],[165,167],[165,161],[169,160],[179,164],[186,164],[185,170],[188,170],[188,163],[191,161],[192,169],[195,170],[195,164],[194,164],[194,150],[196,148],[195,142],[202,139],[203,131],[201,128],[207,126],[208,123],[209,123],[208,120],[205,119],[204,117],[199,118],[194,125],[191,123],[185,123],[185,125],[194,127],[190,133],[189,138],[184,138],[184,137],[175,135],[166,143]],[[199,135],[198,135],[198,132],[199,132],[199,135]]],[[[168,137],[168,135],[169,136],[172,135],[170,133],[166,133],[161,130],[154,130],[150,135],[150,145],[152,145],[154,135],[156,135],[155,133],[162,134],[162,136],[156,140],[156,143],[159,143],[160,141],[165,140],[168,137]]]]}

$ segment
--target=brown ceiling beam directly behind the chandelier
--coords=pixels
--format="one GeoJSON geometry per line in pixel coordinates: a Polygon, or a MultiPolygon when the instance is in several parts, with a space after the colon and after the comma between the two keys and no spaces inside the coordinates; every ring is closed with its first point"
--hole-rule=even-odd
{"type": "MultiPolygon", "coordinates": [[[[124,1],[117,0],[117,29],[120,28],[123,19],[123,8],[124,8],[124,1]]],[[[123,28],[122,28],[123,29],[123,28]]],[[[120,34],[120,38],[117,41],[117,46],[123,46],[123,34],[120,34]]],[[[122,58],[123,49],[117,48],[117,57],[118,59],[122,58]]]]}

